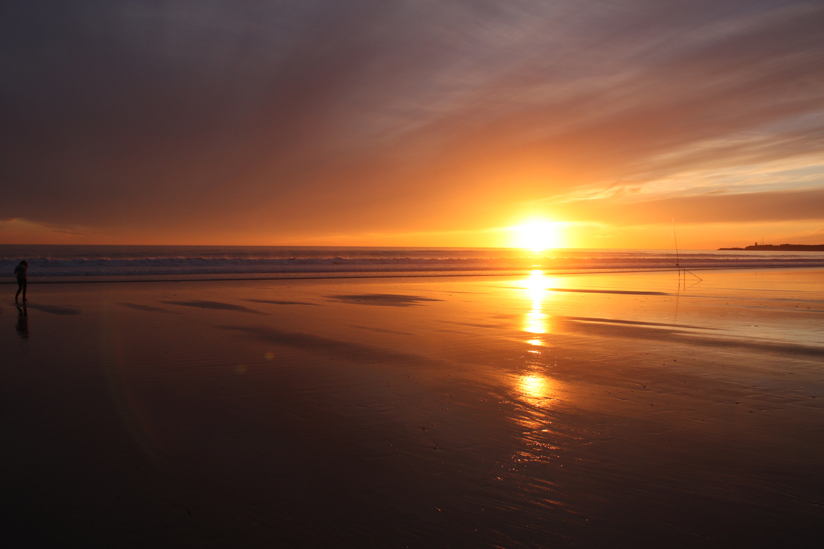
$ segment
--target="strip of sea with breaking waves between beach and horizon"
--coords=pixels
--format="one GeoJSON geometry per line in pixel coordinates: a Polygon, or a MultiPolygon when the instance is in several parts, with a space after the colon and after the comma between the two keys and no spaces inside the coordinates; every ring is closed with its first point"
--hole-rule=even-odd
{"type": "Polygon", "coordinates": [[[824,252],[685,249],[391,248],[0,244],[0,281],[436,277],[824,267],[824,252]]]}

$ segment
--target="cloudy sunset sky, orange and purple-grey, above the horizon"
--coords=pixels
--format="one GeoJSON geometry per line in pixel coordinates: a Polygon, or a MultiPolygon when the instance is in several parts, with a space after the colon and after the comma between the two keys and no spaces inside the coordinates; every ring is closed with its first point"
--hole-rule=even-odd
{"type": "Polygon", "coordinates": [[[6,0],[0,243],[824,244],[824,2],[6,0]]]}

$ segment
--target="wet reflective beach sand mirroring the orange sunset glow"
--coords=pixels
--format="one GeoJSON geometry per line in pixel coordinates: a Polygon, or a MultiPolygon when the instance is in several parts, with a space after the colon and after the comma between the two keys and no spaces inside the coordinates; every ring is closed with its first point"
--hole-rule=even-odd
{"type": "Polygon", "coordinates": [[[818,547],[824,269],[700,276],[32,284],[4,538],[818,547]]]}

